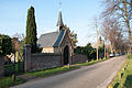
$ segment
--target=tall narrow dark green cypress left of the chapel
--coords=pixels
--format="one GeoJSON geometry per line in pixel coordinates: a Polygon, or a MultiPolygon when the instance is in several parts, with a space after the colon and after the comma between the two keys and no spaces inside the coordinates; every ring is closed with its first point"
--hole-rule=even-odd
{"type": "Polygon", "coordinates": [[[36,47],[36,23],[35,23],[35,15],[34,15],[34,8],[31,7],[28,10],[28,20],[26,20],[26,37],[25,37],[25,44],[31,44],[32,53],[35,53],[36,47]]]}

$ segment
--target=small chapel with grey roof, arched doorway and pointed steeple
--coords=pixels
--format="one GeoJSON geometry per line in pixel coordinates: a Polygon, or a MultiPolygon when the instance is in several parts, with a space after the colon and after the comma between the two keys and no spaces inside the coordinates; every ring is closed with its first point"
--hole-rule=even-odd
{"type": "Polygon", "coordinates": [[[64,59],[64,65],[66,65],[74,55],[74,44],[69,30],[64,26],[61,10],[57,26],[56,32],[42,34],[37,40],[37,44],[43,47],[42,53],[59,53],[62,59],[64,59]]]}

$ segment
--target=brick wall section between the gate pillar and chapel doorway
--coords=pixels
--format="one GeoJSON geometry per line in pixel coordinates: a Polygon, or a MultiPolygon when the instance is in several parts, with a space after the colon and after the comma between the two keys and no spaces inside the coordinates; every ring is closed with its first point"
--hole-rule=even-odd
{"type": "Polygon", "coordinates": [[[61,55],[40,53],[31,55],[31,70],[40,70],[61,66],[61,55]]]}

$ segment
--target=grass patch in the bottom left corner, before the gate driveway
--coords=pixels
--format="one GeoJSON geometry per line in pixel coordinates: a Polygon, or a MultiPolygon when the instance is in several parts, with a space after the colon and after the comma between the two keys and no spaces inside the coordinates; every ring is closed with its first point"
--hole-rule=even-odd
{"type": "Polygon", "coordinates": [[[2,77],[0,78],[0,88],[9,88],[14,85],[22,84],[23,80],[20,78],[16,78],[15,81],[13,81],[12,77],[2,77]]]}

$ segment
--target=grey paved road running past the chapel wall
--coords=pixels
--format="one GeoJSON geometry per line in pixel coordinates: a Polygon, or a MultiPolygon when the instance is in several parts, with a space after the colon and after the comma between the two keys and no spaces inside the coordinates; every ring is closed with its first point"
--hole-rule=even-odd
{"type": "Polygon", "coordinates": [[[81,67],[65,74],[28,81],[12,88],[107,88],[127,56],[81,67]]]}

